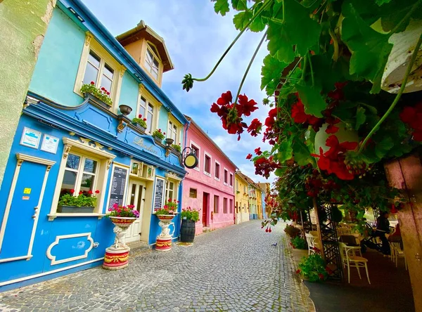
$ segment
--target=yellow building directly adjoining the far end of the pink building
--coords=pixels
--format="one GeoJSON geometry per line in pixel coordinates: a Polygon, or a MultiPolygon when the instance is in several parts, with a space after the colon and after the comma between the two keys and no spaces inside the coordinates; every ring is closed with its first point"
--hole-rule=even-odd
{"type": "Polygon", "coordinates": [[[241,173],[235,172],[236,187],[235,187],[235,202],[236,202],[236,224],[249,221],[249,183],[248,177],[241,173]]]}

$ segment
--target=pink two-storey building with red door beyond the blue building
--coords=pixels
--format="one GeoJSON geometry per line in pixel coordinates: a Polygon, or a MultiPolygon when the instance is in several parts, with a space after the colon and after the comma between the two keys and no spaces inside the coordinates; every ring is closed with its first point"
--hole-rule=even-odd
{"type": "Polygon", "coordinates": [[[186,169],[183,182],[183,207],[200,210],[196,235],[234,224],[234,172],[236,165],[205,134],[191,117],[186,146],[195,150],[198,166],[186,169]]]}

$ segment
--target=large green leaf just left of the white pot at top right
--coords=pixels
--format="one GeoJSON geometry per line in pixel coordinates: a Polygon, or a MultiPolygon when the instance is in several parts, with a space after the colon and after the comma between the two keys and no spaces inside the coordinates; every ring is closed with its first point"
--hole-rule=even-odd
{"type": "Polygon", "coordinates": [[[371,80],[371,93],[381,91],[381,77],[392,44],[388,34],[380,34],[367,25],[352,4],[343,6],[344,20],[341,37],[352,52],[350,74],[358,74],[371,80]]]}

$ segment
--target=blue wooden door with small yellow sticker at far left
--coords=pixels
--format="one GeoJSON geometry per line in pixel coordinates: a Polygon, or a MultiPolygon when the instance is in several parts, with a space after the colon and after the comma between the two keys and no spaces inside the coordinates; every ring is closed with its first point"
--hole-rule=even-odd
{"type": "Polygon", "coordinates": [[[38,207],[45,173],[45,164],[23,162],[21,165],[15,192],[12,195],[11,207],[6,219],[0,259],[27,255],[32,229],[36,220],[34,218],[35,207],[38,207]]]}

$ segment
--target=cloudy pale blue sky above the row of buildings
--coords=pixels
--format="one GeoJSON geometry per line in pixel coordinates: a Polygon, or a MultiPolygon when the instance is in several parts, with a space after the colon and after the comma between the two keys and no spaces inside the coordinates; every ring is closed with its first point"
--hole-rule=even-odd
{"type": "MultiPolygon", "coordinates": [[[[136,27],[140,20],[146,22],[165,40],[167,51],[174,64],[174,70],[165,72],[162,89],[172,102],[185,115],[195,120],[207,132],[219,148],[229,156],[243,174],[255,182],[270,182],[255,175],[253,163],[246,160],[253,150],[269,150],[262,142],[262,136],[252,137],[247,132],[237,141],[237,136],[227,134],[217,114],[210,112],[212,103],[226,91],[236,96],[246,67],[255,51],[262,33],[245,32],[224,58],[215,73],[206,82],[195,82],[193,89],[182,89],[181,80],[191,73],[193,77],[203,78],[212,70],[222,53],[231,44],[238,30],[233,25],[234,11],[224,17],[214,11],[210,0],[83,0],[90,11],[115,36],[136,27]]],[[[262,105],[265,93],[260,90],[261,67],[268,53],[267,44],[262,44],[255,58],[241,93],[253,98],[259,106],[246,122],[258,118],[264,122],[268,106],[262,105]]]]}

